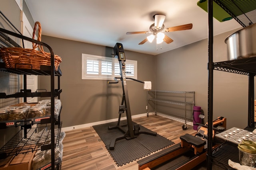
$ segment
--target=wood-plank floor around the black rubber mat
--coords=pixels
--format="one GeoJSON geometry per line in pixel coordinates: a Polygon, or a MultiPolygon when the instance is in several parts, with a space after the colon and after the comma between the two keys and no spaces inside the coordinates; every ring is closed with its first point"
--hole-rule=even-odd
{"type": "MultiPolygon", "coordinates": [[[[183,130],[184,123],[160,115],[134,118],[132,121],[175,144],[180,143],[181,135],[196,133],[193,126],[187,125],[187,130],[183,130]]],[[[63,146],[62,170],[138,170],[138,160],[117,166],[93,127],[67,131],[63,146]]]]}

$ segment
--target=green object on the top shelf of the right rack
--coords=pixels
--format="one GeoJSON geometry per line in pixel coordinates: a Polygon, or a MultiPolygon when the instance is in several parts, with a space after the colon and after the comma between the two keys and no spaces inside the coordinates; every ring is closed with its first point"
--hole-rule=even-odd
{"type": "MultiPolygon", "coordinates": [[[[197,5],[202,8],[204,11],[208,12],[208,0],[200,0],[197,2],[197,5]]],[[[213,17],[220,21],[228,21],[232,19],[232,16],[230,16],[225,10],[223,10],[216,2],[213,2],[213,17]]]]}

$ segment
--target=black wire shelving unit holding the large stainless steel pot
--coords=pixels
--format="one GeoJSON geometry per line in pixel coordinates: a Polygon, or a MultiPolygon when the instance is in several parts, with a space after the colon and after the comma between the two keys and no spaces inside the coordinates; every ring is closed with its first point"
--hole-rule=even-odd
{"type": "MultiPolygon", "coordinates": [[[[254,77],[256,76],[256,57],[213,63],[213,1],[221,6],[242,27],[256,23],[255,0],[208,0],[208,136],[212,136],[213,121],[213,70],[247,75],[248,78],[248,126],[252,131],[254,125],[254,77]]],[[[213,140],[208,140],[207,169],[212,169],[212,163],[228,167],[228,159],[238,160],[237,144],[225,142],[212,150],[213,140]]]]}

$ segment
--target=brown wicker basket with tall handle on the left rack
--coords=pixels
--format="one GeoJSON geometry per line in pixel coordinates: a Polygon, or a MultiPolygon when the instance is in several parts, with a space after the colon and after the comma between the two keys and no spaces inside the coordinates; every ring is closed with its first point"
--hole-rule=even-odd
{"type": "MultiPolygon", "coordinates": [[[[36,34],[38,25],[38,41],[41,41],[41,24],[36,22],[33,30],[33,39],[36,34]]],[[[33,44],[33,49],[23,49],[20,47],[4,47],[0,49],[0,56],[6,68],[22,68],[22,69],[35,69],[40,70],[41,65],[51,65],[51,54],[44,52],[42,45],[33,44]],[[39,48],[39,51],[36,50],[39,48]]],[[[54,67],[58,70],[61,58],[54,55],[54,67]]]]}

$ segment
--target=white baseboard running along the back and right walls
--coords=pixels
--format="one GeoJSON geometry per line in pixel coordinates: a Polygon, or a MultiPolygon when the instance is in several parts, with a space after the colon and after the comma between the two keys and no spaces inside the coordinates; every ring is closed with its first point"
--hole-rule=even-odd
{"type": "MultiPolygon", "coordinates": [[[[154,115],[154,114],[155,114],[154,112],[148,113],[148,115],[154,115]]],[[[132,118],[143,117],[143,116],[146,116],[146,115],[147,115],[147,113],[142,113],[142,114],[139,114],[139,115],[133,115],[132,118]]],[[[169,119],[176,120],[176,121],[184,122],[183,119],[179,119],[179,118],[176,118],[176,117],[164,115],[164,114],[161,114],[161,113],[157,113],[157,115],[164,116],[164,117],[167,117],[169,119]]],[[[124,119],[126,119],[126,117],[121,117],[121,120],[124,120],[124,119]]],[[[62,131],[66,132],[66,131],[72,131],[72,130],[82,129],[82,128],[86,128],[86,127],[91,127],[91,126],[94,126],[94,125],[110,123],[110,122],[113,122],[113,121],[118,121],[118,118],[110,119],[110,120],[104,120],[104,121],[97,121],[97,122],[93,122],[93,123],[86,123],[86,124],[83,124],[83,125],[75,125],[75,126],[70,126],[70,127],[62,127],[61,129],[62,129],[62,131]]],[[[188,125],[193,125],[193,122],[187,122],[187,124],[188,125]]]]}

